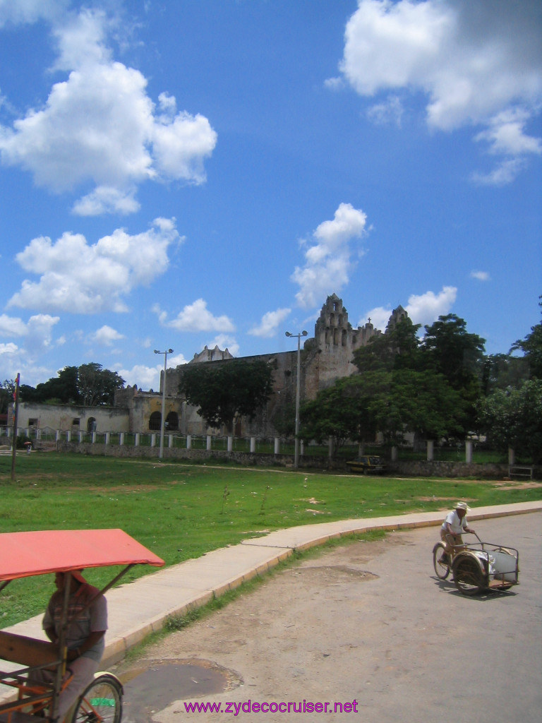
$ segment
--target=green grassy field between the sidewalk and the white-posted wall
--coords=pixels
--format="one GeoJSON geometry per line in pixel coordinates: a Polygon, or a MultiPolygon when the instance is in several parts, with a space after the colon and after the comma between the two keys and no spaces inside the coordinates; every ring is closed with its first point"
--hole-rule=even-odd
{"type": "MultiPolygon", "coordinates": [[[[0,531],[120,527],[173,565],[250,536],[301,524],[448,510],[457,499],[498,505],[542,497],[542,486],[397,479],[35,453],[0,457],[0,531]]],[[[149,572],[135,568],[125,580],[149,572]]],[[[110,570],[90,570],[99,585],[110,570]]],[[[51,576],[0,594],[0,627],[42,612],[51,576]]]]}

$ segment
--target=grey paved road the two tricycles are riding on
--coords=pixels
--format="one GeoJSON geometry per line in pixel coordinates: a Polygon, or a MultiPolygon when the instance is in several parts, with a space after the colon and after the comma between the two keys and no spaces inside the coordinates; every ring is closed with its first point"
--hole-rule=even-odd
{"type": "MultiPolygon", "coordinates": [[[[540,723],[542,513],[473,526],[483,539],[520,550],[520,586],[468,598],[439,581],[431,564],[436,528],[325,552],[147,650],[139,662],[151,669],[147,721],[540,723]],[[186,662],[195,664],[188,675],[186,662]],[[220,690],[217,674],[229,690],[220,690]],[[252,707],[299,710],[304,700],[332,710],[350,703],[352,712],[252,707]],[[187,714],[185,703],[221,703],[222,712],[187,714]]],[[[130,712],[138,687],[138,677],[126,684],[126,723],[131,715],[147,723],[130,712]]]]}

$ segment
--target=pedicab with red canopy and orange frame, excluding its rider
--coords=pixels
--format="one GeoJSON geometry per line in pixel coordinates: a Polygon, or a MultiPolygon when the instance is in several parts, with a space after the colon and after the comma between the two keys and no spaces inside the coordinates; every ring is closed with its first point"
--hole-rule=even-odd
{"type": "MultiPolygon", "coordinates": [[[[72,622],[68,617],[68,601],[73,571],[124,565],[100,590],[103,594],[134,565],[162,567],[164,564],[160,557],[121,529],[1,533],[0,593],[12,581],[35,575],[64,573],[67,583],[57,643],[0,630],[0,667],[11,667],[3,664],[7,661],[17,668],[0,669],[0,685],[8,686],[5,690],[12,693],[9,700],[0,703],[0,723],[56,722],[59,695],[69,682],[66,630],[72,622]],[[40,669],[53,672],[50,685],[33,683],[32,674],[40,669]]],[[[115,675],[96,673],[77,700],[69,723],[119,723],[122,695],[122,685],[115,675]]]]}

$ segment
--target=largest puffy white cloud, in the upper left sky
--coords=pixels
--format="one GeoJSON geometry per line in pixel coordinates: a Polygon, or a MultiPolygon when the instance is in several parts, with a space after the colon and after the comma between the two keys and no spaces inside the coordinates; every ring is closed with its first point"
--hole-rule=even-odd
{"type": "Polygon", "coordinates": [[[38,186],[75,192],[94,184],[74,203],[79,215],[133,213],[143,181],[202,183],[217,141],[204,116],[177,112],[173,96],[161,94],[157,109],[143,74],[112,59],[108,29],[106,14],[90,9],[55,25],[55,69],[66,80],[42,107],[0,127],[2,161],[38,186]]]}

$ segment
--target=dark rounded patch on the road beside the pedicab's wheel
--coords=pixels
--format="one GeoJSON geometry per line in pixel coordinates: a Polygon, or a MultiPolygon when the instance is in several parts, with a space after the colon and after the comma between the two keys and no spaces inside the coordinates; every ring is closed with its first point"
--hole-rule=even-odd
{"type": "Polygon", "coordinates": [[[120,675],[123,723],[151,723],[173,701],[235,688],[238,675],[207,660],[144,660],[120,675]]]}

